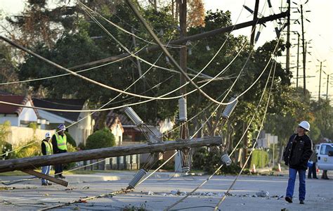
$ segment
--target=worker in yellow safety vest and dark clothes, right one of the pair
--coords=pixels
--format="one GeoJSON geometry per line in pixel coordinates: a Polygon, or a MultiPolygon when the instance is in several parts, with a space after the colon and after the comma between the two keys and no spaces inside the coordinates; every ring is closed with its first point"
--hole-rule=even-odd
{"type": "MultiPolygon", "coordinates": [[[[67,138],[65,124],[59,124],[55,134],[52,136],[53,154],[67,153],[67,138]]],[[[63,164],[54,165],[55,178],[65,179],[63,176],[63,164]]]]}

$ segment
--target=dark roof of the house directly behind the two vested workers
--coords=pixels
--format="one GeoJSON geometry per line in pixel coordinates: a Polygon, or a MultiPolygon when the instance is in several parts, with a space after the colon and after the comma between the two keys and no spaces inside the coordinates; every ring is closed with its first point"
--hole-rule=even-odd
{"type": "MultiPolygon", "coordinates": [[[[50,98],[33,98],[34,105],[37,107],[65,109],[65,110],[82,110],[84,108],[84,99],[50,99],[50,98]]],[[[80,113],[47,111],[68,120],[77,121],[80,113]]]]}

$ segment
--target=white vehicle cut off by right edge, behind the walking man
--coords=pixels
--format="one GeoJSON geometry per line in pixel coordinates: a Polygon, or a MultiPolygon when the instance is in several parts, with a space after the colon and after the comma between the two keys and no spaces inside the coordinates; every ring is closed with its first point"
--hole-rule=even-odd
{"type": "Polygon", "coordinates": [[[318,169],[333,170],[333,143],[320,143],[317,149],[318,169]]]}

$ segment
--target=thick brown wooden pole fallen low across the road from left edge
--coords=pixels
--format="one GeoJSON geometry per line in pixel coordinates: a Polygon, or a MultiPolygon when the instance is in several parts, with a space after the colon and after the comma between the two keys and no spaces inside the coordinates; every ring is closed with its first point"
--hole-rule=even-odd
{"type": "Polygon", "coordinates": [[[200,139],[186,139],[181,141],[165,141],[164,143],[137,144],[132,146],[117,146],[109,148],[98,148],[88,151],[74,153],[60,153],[56,155],[44,155],[32,158],[20,158],[0,161],[0,172],[11,172],[15,170],[32,170],[36,167],[64,164],[83,160],[96,160],[100,158],[111,158],[122,155],[136,155],[143,153],[157,153],[170,150],[178,150],[188,147],[216,146],[221,145],[221,137],[205,137],[200,139]]]}

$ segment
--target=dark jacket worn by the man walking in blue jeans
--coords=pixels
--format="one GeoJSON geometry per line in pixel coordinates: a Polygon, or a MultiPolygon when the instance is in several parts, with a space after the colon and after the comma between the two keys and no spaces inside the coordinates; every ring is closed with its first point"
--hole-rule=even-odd
{"type": "Polygon", "coordinates": [[[285,152],[283,153],[283,160],[292,169],[306,170],[308,168],[308,159],[312,153],[312,141],[310,137],[306,134],[303,136],[293,134],[290,136],[285,152]]]}

